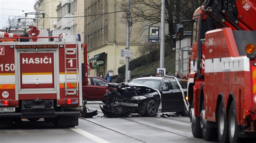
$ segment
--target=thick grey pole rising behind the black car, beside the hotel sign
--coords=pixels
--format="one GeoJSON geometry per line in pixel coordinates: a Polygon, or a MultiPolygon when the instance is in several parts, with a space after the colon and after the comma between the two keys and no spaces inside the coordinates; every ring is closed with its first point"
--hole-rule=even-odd
{"type": "Polygon", "coordinates": [[[161,6],[161,43],[160,43],[160,68],[165,66],[165,0],[161,6]]]}

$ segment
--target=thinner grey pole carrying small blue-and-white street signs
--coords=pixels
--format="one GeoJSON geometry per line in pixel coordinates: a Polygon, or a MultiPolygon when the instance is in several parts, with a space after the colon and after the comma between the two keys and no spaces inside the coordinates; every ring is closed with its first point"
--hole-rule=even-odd
{"type": "MultiPolygon", "coordinates": [[[[130,0],[127,0],[127,31],[126,31],[126,49],[130,48],[130,0]]],[[[128,82],[129,57],[125,62],[125,82],[128,82]]]]}

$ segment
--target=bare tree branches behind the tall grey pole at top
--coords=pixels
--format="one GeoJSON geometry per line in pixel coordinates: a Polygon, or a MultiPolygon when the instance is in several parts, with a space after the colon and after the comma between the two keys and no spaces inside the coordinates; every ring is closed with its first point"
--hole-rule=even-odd
{"type": "MultiPolygon", "coordinates": [[[[192,19],[194,11],[200,7],[202,0],[165,0],[165,23],[168,24],[169,33],[166,42],[175,45],[172,35],[175,34],[175,26],[180,20],[192,19]]],[[[120,8],[127,11],[127,4],[119,4],[120,8]]],[[[123,17],[126,23],[126,17],[123,17]]],[[[130,21],[132,23],[143,23],[138,35],[148,29],[149,26],[156,26],[161,23],[161,0],[130,0],[130,21]]],[[[189,28],[187,28],[189,29],[189,28]]]]}

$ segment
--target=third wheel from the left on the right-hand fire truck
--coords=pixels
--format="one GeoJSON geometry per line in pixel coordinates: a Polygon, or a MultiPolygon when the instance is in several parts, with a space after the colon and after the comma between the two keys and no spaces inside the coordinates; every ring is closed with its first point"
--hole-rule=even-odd
{"type": "Polygon", "coordinates": [[[228,125],[227,120],[225,119],[225,106],[223,100],[219,105],[218,111],[218,135],[219,142],[227,143],[228,142],[228,125]]]}

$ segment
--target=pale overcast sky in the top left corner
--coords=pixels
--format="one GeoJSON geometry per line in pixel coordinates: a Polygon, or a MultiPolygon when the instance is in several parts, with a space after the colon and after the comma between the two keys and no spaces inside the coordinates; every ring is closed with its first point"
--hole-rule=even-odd
{"type": "Polygon", "coordinates": [[[24,18],[24,13],[35,12],[35,3],[35,0],[0,0],[0,28],[5,28],[9,17],[24,18]]]}

